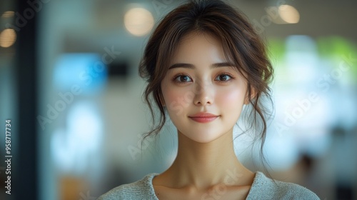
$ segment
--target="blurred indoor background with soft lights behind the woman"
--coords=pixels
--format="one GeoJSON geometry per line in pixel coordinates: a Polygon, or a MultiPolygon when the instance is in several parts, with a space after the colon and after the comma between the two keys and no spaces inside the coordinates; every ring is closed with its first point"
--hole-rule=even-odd
{"type": "MultiPolygon", "coordinates": [[[[96,199],[169,167],[171,122],[141,144],[151,119],[137,71],[151,31],[182,2],[0,1],[0,199],[96,199]]],[[[275,68],[271,175],[321,199],[357,199],[357,1],[229,2],[275,68]]],[[[235,143],[243,164],[264,171],[251,136],[235,143]]]]}

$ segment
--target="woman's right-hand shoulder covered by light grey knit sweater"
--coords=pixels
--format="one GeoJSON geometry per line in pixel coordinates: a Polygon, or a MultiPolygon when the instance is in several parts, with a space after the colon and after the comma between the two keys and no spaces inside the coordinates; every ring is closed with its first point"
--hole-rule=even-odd
{"type": "Polygon", "coordinates": [[[257,172],[247,199],[319,199],[318,196],[298,184],[269,179],[257,172]]]}

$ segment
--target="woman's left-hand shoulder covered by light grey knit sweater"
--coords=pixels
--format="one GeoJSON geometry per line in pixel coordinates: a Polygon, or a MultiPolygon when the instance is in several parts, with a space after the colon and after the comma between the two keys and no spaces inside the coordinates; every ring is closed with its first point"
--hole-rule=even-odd
{"type": "Polygon", "coordinates": [[[143,179],[131,184],[123,184],[99,196],[98,200],[114,199],[157,199],[152,186],[156,174],[148,174],[143,179]]]}

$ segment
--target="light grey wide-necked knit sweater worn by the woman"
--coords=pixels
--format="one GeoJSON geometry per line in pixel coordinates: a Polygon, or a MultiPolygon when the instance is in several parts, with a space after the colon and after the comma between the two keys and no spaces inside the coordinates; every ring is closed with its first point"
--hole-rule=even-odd
{"type": "MultiPolygon", "coordinates": [[[[152,180],[157,174],[148,174],[139,181],[131,184],[117,186],[106,194],[99,196],[98,200],[116,199],[145,199],[158,200],[152,180]]],[[[297,184],[283,181],[273,181],[261,172],[256,172],[253,184],[246,198],[251,199],[319,199],[312,191],[297,184]]]]}

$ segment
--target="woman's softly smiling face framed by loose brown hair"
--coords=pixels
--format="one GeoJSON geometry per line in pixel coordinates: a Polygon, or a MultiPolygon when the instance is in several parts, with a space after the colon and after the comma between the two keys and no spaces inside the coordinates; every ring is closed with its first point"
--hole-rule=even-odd
{"type": "Polygon", "coordinates": [[[246,101],[247,84],[225,59],[218,39],[193,33],[178,46],[161,89],[178,131],[208,143],[233,130],[246,101]]]}

